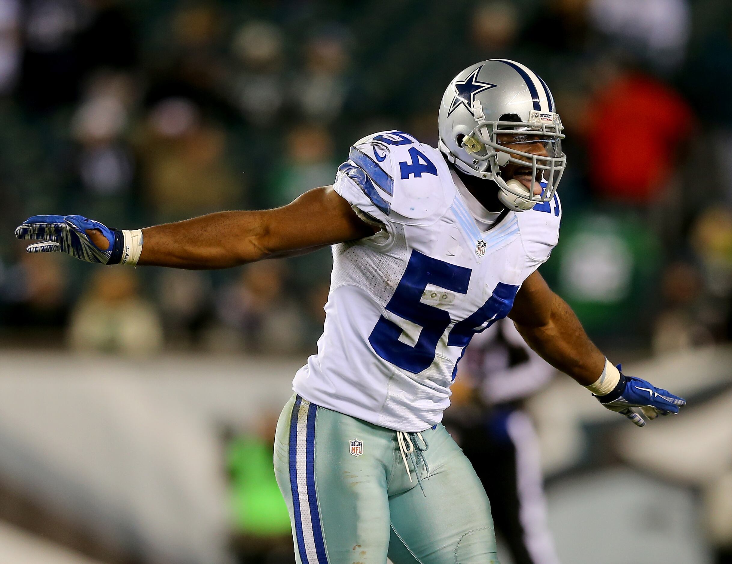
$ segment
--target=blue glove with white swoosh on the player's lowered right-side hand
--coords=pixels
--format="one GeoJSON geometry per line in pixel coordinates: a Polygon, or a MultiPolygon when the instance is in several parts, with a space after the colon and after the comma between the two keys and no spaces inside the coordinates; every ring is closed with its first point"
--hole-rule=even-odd
{"type": "Polygon", "coordinates": [[[679,407],[686,405],[685,399],[674,396],[669,391],[656,388],[646,380],[625,376],[620,364],[618,364],[618,370],[620,381],[613,391],[604,396],[595,397],[609,410],[626,416],[639,427],[646,424],[641,414],[648,419],[655,419],[660,415],[668,416],[671,413],[679,413],[679,407]]]}

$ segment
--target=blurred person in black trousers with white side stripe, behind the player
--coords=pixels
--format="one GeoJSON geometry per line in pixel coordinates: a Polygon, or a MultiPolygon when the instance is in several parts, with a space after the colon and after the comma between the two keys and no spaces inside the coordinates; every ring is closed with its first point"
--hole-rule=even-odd
{"type": "Polygon", "coordinates": [[[559,564],[539,440],[525,406],[555,373],[502,319],[468,345],[445,411],[445,426],[473,463],[515,564],[559,564]]]}

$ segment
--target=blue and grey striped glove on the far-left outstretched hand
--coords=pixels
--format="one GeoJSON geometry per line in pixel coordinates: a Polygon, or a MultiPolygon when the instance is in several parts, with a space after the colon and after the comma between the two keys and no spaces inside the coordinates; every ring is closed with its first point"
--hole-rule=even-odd
{"type": "Polygon", "coordinates": [[[40,240],[29,245],[28,252],[67,252],[87,263],[119,264],[122,259],[122,231],[80,215],[34,215],[15,230],[15,236],[40,240]],[[92,243],[86,235],[87,229],[100,230],[109,242],[107,249],[102,250],[92,243]]]}

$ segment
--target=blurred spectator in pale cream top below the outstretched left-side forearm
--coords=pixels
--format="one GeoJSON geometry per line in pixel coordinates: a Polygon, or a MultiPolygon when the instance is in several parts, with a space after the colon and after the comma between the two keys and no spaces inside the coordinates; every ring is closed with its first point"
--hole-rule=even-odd
{"type": "Polygon", "coordinates": [[[99,271],[71,314],[68,339],[75,350],[145,356],[163,346],[163,327],[138,293],[133,271],[99,271]]]}

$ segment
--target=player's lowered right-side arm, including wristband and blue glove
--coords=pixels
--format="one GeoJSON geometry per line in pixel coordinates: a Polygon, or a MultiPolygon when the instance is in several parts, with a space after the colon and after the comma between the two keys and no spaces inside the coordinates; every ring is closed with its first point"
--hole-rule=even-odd
{"type": "Polygon", "coordinates": [[[638,426],[647,418],[679,413],[684,399],[613,366],[585,333],[575,312],[553,293],[541,274],[531,274],[516,295],[509,317],[545,361],[589,389],[608,409],[638,426]],[[639,413],[634,408],[640,408],[639,413]]]}

